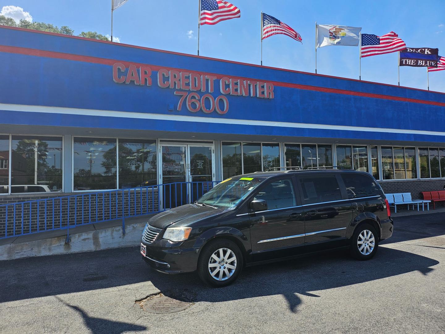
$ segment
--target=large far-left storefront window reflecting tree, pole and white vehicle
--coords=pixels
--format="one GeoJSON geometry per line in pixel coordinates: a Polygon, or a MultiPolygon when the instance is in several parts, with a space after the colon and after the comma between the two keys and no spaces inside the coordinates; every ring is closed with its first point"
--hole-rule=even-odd
{"type": "Polygon", "coordinates": [[[61,137],[12,136],[11,155],[12,193],[62,190],[61,137]]]}

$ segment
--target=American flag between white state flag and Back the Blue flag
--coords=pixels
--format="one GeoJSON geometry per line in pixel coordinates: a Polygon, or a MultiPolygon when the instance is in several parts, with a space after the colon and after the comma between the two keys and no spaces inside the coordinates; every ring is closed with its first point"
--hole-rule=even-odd
{"type": "Polygon", "coordinates": [[[405,42],[393,31],[383,36],[361,34],[361,57],[375,56],[377,54],[402,51],[406,48],[405,42]]]}

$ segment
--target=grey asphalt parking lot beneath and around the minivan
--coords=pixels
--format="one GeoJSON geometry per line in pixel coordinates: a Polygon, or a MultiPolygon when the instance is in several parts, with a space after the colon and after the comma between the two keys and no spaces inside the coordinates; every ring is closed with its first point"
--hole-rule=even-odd
{"type": "Polygon", "coordinates": [[[138,247],[2,261],[0,333],[445,333],[445,215],[394,220],[371,261],[330,252],[220,289],[149,269],[138,247]],[[135,302],[159,293],[192,304],[135,302]]]}

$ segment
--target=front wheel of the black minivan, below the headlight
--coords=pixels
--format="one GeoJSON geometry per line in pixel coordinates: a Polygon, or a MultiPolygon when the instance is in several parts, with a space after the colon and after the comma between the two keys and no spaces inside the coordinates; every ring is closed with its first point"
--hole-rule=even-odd
{"type": "Polygon", "coordinates": [[[236,280],[243,268],[243,254],[231,240],[212,240],[198,260],[198,275],[208,285],[226,286],[236,280]]]}

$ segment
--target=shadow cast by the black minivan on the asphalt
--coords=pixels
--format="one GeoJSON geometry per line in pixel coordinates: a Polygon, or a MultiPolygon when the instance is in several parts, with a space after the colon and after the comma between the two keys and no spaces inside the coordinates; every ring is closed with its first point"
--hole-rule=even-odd
{"type": "Polygon", "coordinates": [[[150,279],[163,294],[180,296],[185,291],[193,301],[230,301],[259,296],[283,295],[289,309],[298,310],[299,295],[320,297],[319,290],[338,288],[419,271],[427,275],[439,262],[428,257],[381,247],[370,261],[356,261],[345,252],[320,254],[302,259],[243,269],[234,284],[210,288],[190,275],[167,276],[153,272],[150,279]],[[180,286],[181,289],[175,289],[180,286]]]}

